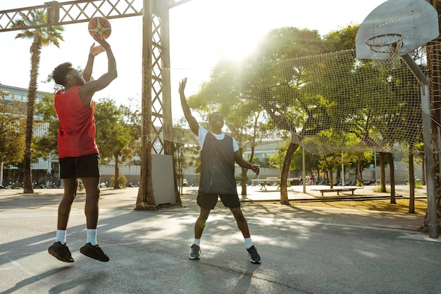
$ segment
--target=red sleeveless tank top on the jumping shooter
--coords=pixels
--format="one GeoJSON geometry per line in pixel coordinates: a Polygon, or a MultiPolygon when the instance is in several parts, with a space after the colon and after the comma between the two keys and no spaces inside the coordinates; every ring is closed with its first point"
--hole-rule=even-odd
{"type": "Polygon", "coordinates": [[[57,91],[55,110],[60,120],[58,157],[77,157],[99,153],[95,142],[94,103],[85,106],[80,99],[80,86],[57,91]]]}

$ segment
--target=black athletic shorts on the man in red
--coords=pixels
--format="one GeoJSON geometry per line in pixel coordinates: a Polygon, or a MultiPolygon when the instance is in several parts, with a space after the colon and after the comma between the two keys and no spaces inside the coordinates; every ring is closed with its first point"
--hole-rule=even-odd
{"type": "Polygon", "coordinates": [[[60,179],[100,177],[99,154],[60,158],[60,179]]]}

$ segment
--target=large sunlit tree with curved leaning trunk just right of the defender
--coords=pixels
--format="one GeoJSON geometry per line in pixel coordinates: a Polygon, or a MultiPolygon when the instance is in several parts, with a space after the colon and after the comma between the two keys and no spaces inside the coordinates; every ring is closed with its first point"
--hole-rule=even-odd
{"type": "MultiPolygon", "coordinates": [[[[316,30],[299,30],[295,27],[282,27],[275,29],[263,38],[258,51],[251,56],[246,63],[241,65],[238,74],[231,75],[232,72],[218,70],[216,75],[209,84],[222,86],[228,89],[219,94],[217,87],[209,87],[204,84],[201,93],[206,89],[211,89],[209,98],[218,97],[216,103],[207,103],[206,97],[200,98],[201,108],[207,110],[209,108],[225,108],[228,113],[232,113],[235,117],[241,113],[236,112],[240,109],[237,106],[252,106],[251,111],[265,110],[261,125],[268,126],[273,132],[280,134],[290,134],[291,141],[287,148],[285,160],[282,165],[281,186],[280,186],[280,202],[289,204],[287,197],[287,177],[290,172],[290,162],[294,151],[299,147],[299,140],[306,136],[313,136],[322,132],[325,128],[329,128],[331,122],[339,123],[337,119],[330,116],[330,108],[335,106],[330,101],[342,96],[341,89],[346,89],[342,85],[330,85],[329,76],[335,75],[330,68],[341,68],[344,75],[340,77],[340,81],[350,81],[350,75],[354,75],[354,64],[342,63],[342,60],[335,58],[331,60],[328,70],[322,70],[321,60],[313,61],[313,64],[293,63],[292,58],[300,56],[310,56],[315,53],[323,53],[327,51],[325,42],[321,39],[316,30]],[[320,68],[320,70],[318,70],[320,68]],[[222,82],[219,82],[222,81],[222,82]],[[314,87],[308,87],[308,84],[323,84],[325,87],[334,87],[335,96],[324,97],[321,93],[317,93],[314,87]],[[228,104],[228,100],[221,99],[221,95],[228,93],[227,96],[236,97],[236,101],[241,104],[228,104]],[[226,104],[226,105],[225,105],[226,104]],[[256,107],[257,106],[257,107],[256,107]]],[[[347,96],[348,94],[345,94],[347,96]]],[[[199,96],[199,94],[198,94],[199,96]]],[[[213,101],[212,98],[210,102],[213,101]]],[[[191,105],[190,105],[191,106],[191,105]]],[[[338,107],[331,110],[338,110],[338,107]]],[[[219,110],[222,112],[222,110],[219,110]]],[[[251,111],[247,113],[251,113],[251,111]]],[[[240,116],[240,117],[251,117],[240,116]]],[[[343,117],[342,113],[335,111],[333,117],[343,117]]],[[[235,127],[228,126],[231,130],[235,127]]],[[[253,134],[244,132],[247,129],[240,128],[240,134],[249,136],[253,139],[253,134]]],[[[255,140],[255,139],[254,139],[255,140]]],[[[238,140],[239,141],[239,140],[238,140]]],[[[243,140],[241,140],[243,141],[243,140]]],[[[242,173],[243,174],[243,173],[242,173]]]]}

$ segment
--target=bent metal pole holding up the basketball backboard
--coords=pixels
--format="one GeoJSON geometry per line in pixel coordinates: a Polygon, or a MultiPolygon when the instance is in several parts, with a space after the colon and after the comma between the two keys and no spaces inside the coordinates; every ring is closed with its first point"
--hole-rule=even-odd
{"type": "Polygon", "coordinates": [[[404,62],[420,82],[421,87],[421,110],[423,118],[423,141],[424,141],[424,163],[426,165],[426,189],[427,189],[427,212],[428,231],[430,238],[438,238],[438,224],[436,212],[435,179],[433,169],[433,146],[432,127],[430,116],[429,79],[418,68],[415,61],[405,54],[402,56],[404,62]]]}

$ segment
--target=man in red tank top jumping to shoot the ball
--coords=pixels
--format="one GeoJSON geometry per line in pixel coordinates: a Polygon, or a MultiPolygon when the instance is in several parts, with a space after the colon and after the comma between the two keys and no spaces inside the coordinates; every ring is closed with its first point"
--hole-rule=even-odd
{"type": "Polygon", "coordinates": [[[92,96],[104,89],[117,77],[116,62],[111,46],[98,35],[94,36],[100,46],[92,44],[83,75],[72,68],[71,63],[58,65],[52,77],[64,89],[57,91],[54,104],[60,129],[58,130],[58,155],[60,158],[60,178],[63,179],[64,194],[58,207],[56,239],[48,249],[51,255],[63,262],[73,262],[66,245],[66,229],[70,208],[77,195],[78,180],[86,190],[85,215],[87,223],[86,245],[80,252],[101,262],[108,256],[97,244],[97,223],[99,210],[99,150],[95,143],[94,103],[92,96]],[[94,56],[106,51],[107,72],[90,81],[94,56]]]}

